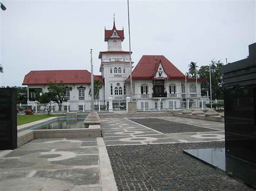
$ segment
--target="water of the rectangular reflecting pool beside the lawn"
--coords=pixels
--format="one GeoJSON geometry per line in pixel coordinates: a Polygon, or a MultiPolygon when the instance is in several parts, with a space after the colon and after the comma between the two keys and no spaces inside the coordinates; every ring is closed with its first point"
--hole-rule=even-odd
{"type": "Polygon", "coordinates": [[[77,118],[77,119],[58,118],[51,122],[33,126],[33,128],[30,128],[30,130],[84,129],[84,124],[83,124],[84,119],[85,118],[77,118]]]}

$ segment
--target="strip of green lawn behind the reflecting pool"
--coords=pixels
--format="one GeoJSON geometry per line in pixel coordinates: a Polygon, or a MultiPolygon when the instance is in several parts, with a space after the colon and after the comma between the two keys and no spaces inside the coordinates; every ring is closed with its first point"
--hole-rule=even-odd
{"type": "Polygon", "coordinates": [[[45,119],[48,117],[59,117],[63,115],[48,115],[48,114],[42,114],[42,115],[17,115],[17,125],[23,125],[26,123],[35,122],[41,119],[45,119]]]}

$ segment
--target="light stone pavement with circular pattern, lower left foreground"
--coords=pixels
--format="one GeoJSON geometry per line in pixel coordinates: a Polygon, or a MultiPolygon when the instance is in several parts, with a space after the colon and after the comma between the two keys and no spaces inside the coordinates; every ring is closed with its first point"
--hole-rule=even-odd
{"type": "Polygon", "coordinates": [[[35,139],[0,152],[0,190],[115,190],[102,138],[35,139]]]}

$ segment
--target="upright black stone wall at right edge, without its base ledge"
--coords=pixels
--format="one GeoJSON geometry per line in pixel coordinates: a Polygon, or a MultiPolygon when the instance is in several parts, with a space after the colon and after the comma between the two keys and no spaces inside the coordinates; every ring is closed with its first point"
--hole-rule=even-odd
{"type": "MultiPolygon", "coordinates": [[[[249,56],[221,68],[224,74],[226,154],[256,164],[256,43],[249,56]]],[[[255,174],[256,176],[256,174],[255,174]]]]}

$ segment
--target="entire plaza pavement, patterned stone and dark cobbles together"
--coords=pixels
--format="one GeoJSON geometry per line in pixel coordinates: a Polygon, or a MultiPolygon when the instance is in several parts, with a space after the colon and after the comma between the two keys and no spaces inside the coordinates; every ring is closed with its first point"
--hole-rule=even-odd
{"type": "Polygon", "coordinates": [[[0,151],[0,190],[250,189],[183,154],[224,147],[224,123],[104,118],[103,138],[35,139],[0,151]]]}

